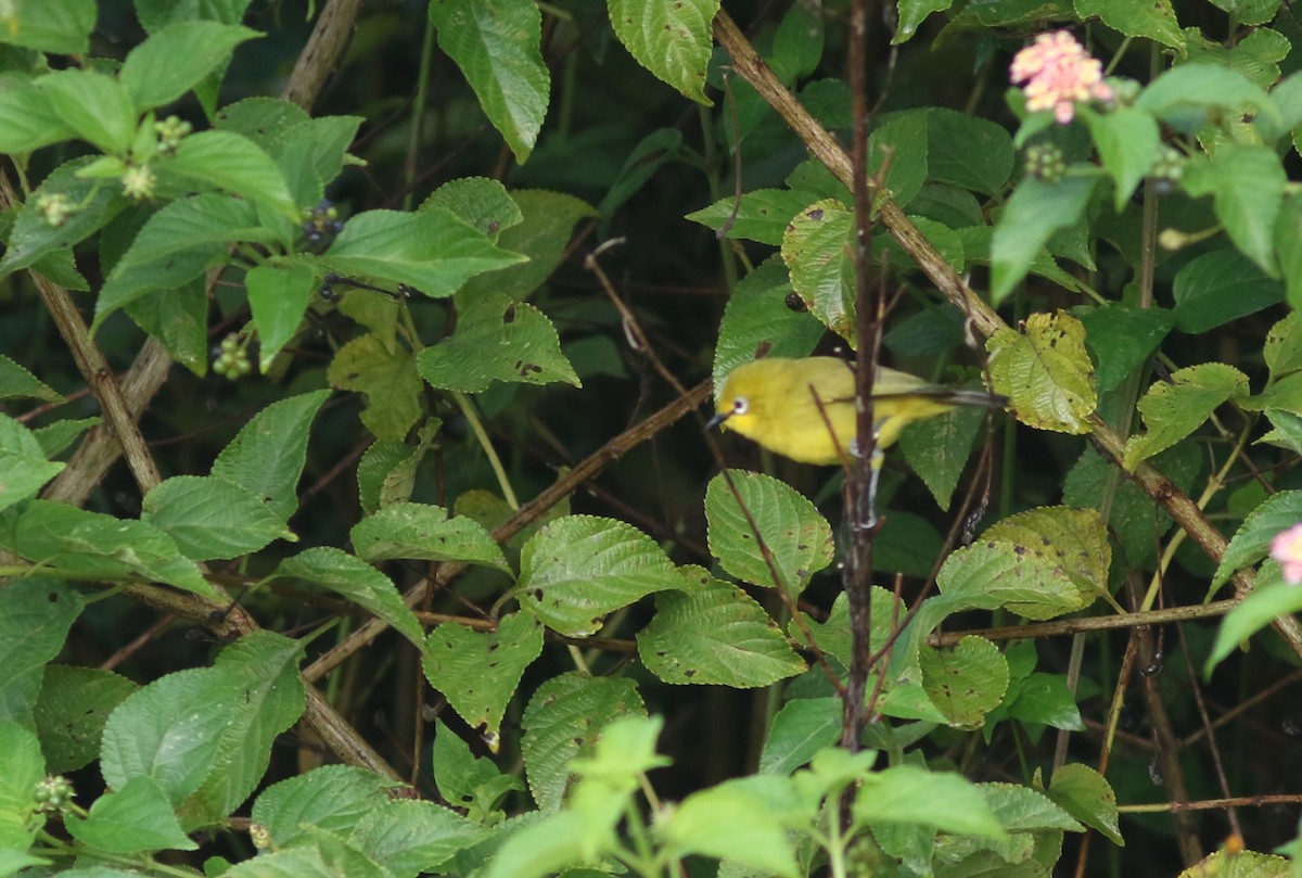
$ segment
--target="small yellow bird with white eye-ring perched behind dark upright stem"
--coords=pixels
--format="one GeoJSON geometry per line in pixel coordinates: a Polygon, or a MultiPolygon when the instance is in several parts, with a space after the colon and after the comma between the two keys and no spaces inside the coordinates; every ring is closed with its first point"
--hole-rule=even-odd
{"type": "MultiPolygon", "coordinates": [[[[958,405],[1006,403],[995,393],[940,387],[878,366],[872,383],[878,432],[874,468],[880,465],[881,452],[914,421],[958,405]]],[[[724,379],[717,413],[710,419],[710,426],[720,425],[803,464],[840,464],[854,453],[854,367],[837,357],[768,357],[742,363],[724,379]]]]}

